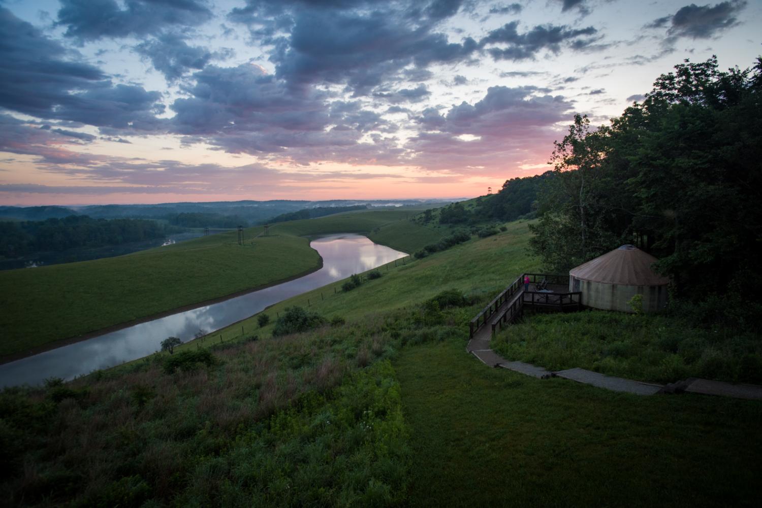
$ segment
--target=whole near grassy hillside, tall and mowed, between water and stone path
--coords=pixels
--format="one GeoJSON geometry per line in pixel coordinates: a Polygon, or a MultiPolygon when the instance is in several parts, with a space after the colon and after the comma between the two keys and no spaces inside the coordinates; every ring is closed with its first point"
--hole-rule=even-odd
{"type": "Polygon", "coordinates": [[[756,506],[759,402],[618,394],[465,352],[475,310],[536,268],[528,236],[514,223],[312,292],[309,312],[346,324],[273,338],[249,320],[4,391],[0,489],[28,506],[756,506]],[[426,302],[443,289],[472,299],[426,302]]]}

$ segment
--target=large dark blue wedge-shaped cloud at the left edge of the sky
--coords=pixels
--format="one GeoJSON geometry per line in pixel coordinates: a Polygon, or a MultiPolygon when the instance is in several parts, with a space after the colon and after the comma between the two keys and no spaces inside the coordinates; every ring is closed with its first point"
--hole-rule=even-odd
{"type": "MultiPolygon", "coordinates": [[[[34,117],[155,130],[161,94],[112,85],[100,69],[72,62],[69,52],[26,21],[0,8],[0,106],[34,117]]],[[[73,55],[75,56],[75,55],[73,55]]]]}

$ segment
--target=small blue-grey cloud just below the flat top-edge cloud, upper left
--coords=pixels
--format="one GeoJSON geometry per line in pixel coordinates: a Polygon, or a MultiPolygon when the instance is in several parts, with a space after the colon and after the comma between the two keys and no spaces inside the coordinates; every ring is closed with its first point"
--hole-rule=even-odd
{"type": "Polygon", "coordinates": [[[203,69],[213,58],[229,56],[229,53],[213,53],[201,46],[188,46],[178,34],[162,34],[154,40],[140,43],[135,50],[150,59],[167,81],[174,81],[191,70],[203,69]]]}

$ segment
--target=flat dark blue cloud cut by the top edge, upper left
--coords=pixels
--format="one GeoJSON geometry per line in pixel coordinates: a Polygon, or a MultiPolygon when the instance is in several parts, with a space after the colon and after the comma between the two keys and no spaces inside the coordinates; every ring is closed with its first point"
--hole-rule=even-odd
{"type": "Polygon", "coordinates": [[[197,0],[61,0],[58,24],[66,36],[79,40],[158,34],[168,26],[189,27],[212,17],[197,0]]]}

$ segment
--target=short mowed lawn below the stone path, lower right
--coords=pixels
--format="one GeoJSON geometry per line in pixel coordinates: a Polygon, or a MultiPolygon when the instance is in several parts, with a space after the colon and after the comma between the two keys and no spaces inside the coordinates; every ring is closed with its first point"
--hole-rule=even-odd
{"type": "Polygon", "coordinates": [[[762,402],[618,394],[402,350],[408,506],[758,506],[762,402]]]}

